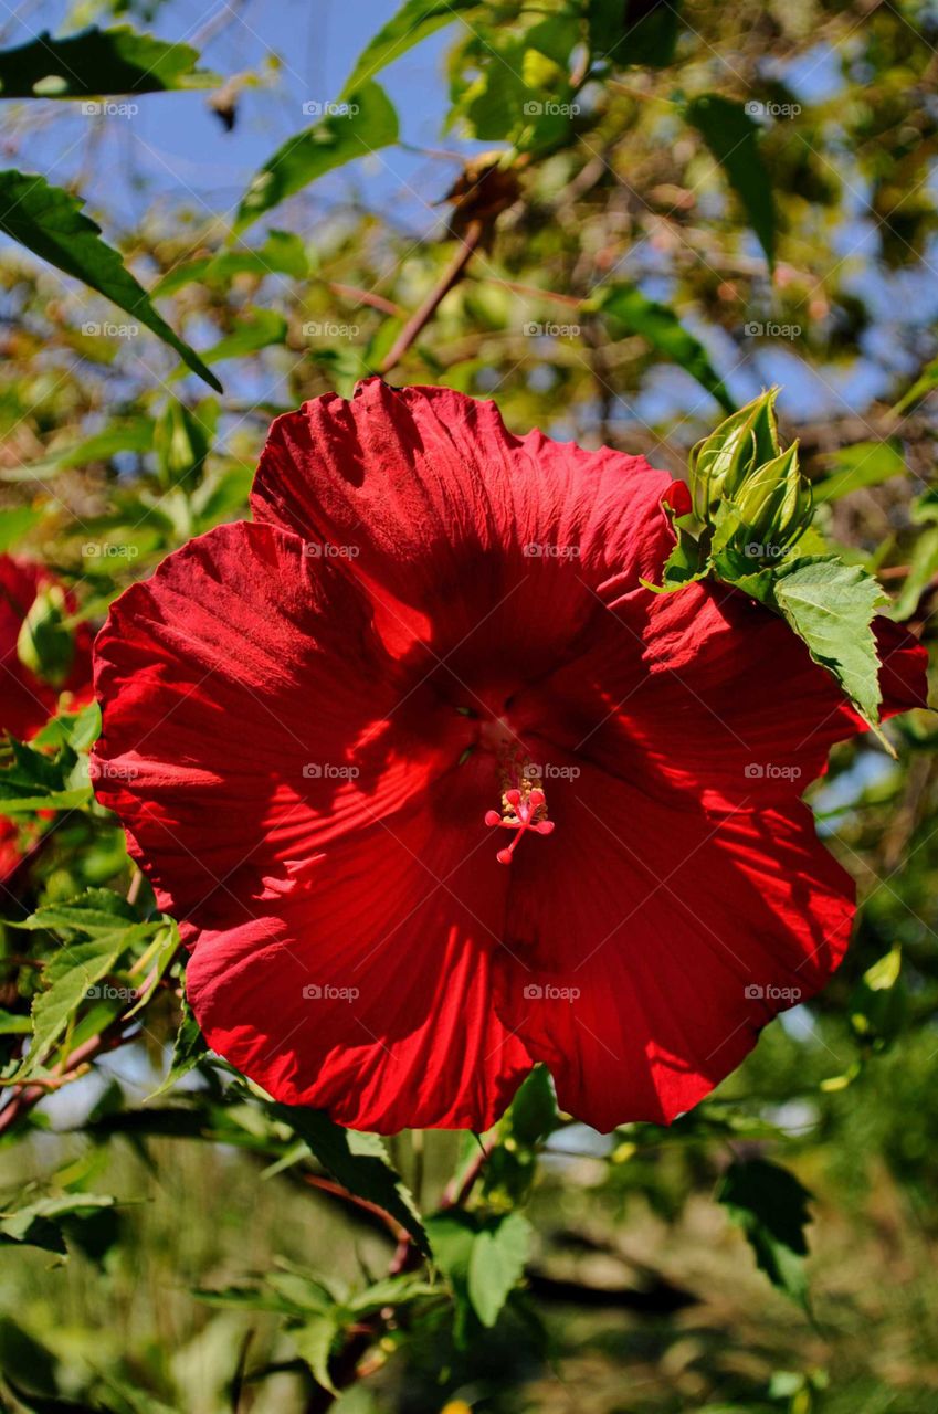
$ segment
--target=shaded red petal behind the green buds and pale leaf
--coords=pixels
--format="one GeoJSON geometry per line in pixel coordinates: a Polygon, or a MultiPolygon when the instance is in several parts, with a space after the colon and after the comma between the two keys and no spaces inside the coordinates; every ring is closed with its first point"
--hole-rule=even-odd
{"type": "MultiPolygon", "coordinates": [[[[884,714],[925,704],[927,653],[877,619],[884,714]]],[[[634,591],[525,706],[532,730],[651,795],[716,809],[801,796],[830,747],[863,731],[781,618],[736,590],[634,591]]]]}

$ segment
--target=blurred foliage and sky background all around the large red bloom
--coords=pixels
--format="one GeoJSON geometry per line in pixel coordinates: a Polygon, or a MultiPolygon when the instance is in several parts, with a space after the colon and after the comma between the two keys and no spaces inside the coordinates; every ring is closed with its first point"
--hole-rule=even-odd
{"type": "MultiPolygon", "coordinates": [[[[69,590],[40,677],[246,513],[274,414],[369,372],[675,474],[781,383],[819,527],[928,639],[931,3],[41,0],[0,41],[0,549],[69,590]]],[[[863,901],[823,997],[669,1131],[597,1135],[535,1076],[484,1167],[393,1140],[427,1267],[390,1169],[201,1052],[64,708],[0,775],[0,1407],[938,1410],[928,714],[812,788],[863,901]]]]}

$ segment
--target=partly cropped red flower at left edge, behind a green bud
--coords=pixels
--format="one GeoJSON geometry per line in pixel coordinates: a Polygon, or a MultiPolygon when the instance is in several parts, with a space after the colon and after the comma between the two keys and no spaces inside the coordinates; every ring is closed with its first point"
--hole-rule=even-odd
{"type": "MultiPolygon", "coordinates": [[[[0,554],[0,732],[10,732],[20,741],[34,737],[61,701],[76,707],[92,696],[91,631],[86,625],[79,625],[74,635],[72,660],[58,686],[37,677],[20,659],[23,624],[37,595],[51,588],[62,592],[64,608],[74,614],[75,600],[44,566],[0,554]]],[[[0,816],[0,884],[8,882],[23,861],[18,841],[14,820],[0,816]]]]}

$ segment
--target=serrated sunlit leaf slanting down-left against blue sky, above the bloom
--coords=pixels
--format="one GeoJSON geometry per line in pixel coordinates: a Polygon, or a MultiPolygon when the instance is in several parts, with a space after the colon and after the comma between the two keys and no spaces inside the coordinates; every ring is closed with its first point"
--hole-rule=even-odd
{"type": "Polygon", "coordinates": [[[398,141],[398,113],[385,90],[368,82],[348,93],[337,112],[297,133],[262,167],[248,188],[235,230],[325,173],[398,141]]]}

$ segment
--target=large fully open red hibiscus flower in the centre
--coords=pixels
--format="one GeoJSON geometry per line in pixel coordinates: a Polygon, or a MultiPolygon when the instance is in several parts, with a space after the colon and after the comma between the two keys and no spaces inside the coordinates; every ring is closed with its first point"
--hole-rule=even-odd
{"type": "Polygon", "coordinates": [[[98,796],[272,1094],[485,1128],[543,1060],[600,1130],[666,1121],[838,966],[853,884],[799,795],[860,724],[743,594],[641,587],[669,485],[369,380],[277,419],[255,523],[115,604],[98,796]]]}

